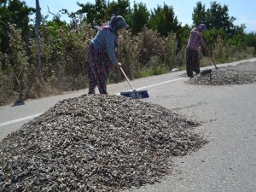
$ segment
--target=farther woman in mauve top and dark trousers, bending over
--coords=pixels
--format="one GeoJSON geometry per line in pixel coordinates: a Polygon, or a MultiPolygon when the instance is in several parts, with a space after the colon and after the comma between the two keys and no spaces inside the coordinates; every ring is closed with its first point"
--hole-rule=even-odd
{"type": "Polygon", "coordinates": [[[190,32],[189,43],[187,45],[186,52],[186,69],[189,78],[193,78],[193,72],[200,73],[200,60],[198,49],[203,47],[207,49],[207,44],[202,38],[202,33],[207,30],[205,24],[200,24],[196,28],[193,28],[190,32]]]}

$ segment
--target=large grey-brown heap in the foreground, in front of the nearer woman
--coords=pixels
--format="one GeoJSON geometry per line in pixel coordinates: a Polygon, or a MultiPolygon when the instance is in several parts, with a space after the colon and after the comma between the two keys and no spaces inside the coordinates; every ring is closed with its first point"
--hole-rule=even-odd
{"type": "Polygon", "coordinates": [[[123,96],[63,100],[0,143],[0,191],[120,191],[155,183],[205,143],[198,123],[123,96]]]}

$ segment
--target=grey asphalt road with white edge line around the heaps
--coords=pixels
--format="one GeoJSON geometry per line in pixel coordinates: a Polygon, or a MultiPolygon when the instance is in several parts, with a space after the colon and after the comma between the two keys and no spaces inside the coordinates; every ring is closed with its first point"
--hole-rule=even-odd
{"type": "MultiPolygon", "coordinates": [[[[247,61],[255,62],[256,59],[247,61]]],[[[168,73],[131,83],[136,88],[148,90],[150,97],[145,101],[201,121],[201,126],[195,131],[206,137],[209,143],[192,154],[177,157],[172,174],[160,183],[132,191],[255,192],[256,84],[190,85],[184,84],[188,79],[183,77],[183,73],[168,73]]],[[[109,94],[124,90],[130,90],[126,82],[108,85],[109,94]]],[[[25,105],[1,107],[0,140],[56,102],[86,92],[73,91],[61,96],[26,101],[25,105]]]]}

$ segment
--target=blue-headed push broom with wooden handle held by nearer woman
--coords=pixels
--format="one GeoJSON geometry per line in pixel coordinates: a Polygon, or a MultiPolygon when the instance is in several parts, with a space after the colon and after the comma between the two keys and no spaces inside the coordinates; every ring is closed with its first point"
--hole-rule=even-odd
{"type": "Polygon", "coordinates": [[[122,67],[120,67],[121,72],[124,74],[125,79],[127,80],[128,84],[131,86],[131,91],[125,91],[125,92],[120,92],[121,96],[127,96],[131,97],[133,99],[143,99],[143,98],[148,98],[148,90],[135,90],[134,87],[131,85],[130,80],[127,78],[124,70],[122,67]]]}

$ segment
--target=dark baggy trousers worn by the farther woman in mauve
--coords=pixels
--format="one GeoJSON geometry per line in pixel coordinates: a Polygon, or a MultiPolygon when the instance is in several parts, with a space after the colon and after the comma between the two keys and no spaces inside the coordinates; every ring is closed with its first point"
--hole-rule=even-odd
{"type": "Polygon", "coordinates": [[[198,50],[187,48],[186,51],[186,70],[188,77],[193,77],[193,72],[200,73],[200,60],[198,50]]]}

